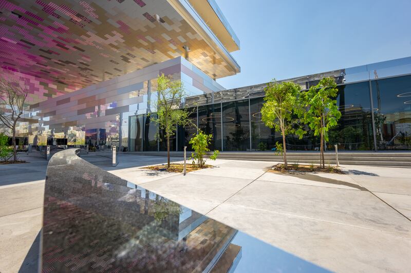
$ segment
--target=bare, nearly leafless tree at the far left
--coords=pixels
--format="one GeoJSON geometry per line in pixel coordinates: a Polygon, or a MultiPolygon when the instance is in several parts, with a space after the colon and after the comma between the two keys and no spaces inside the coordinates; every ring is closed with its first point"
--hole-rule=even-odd
{"type": "Polygon", "coordinates": [[[0,121],[11,130],[13,144],[13,161],[17,161],[16,125],[23,115],[28,95],[26,86],[16,80],[0,79],[0,121]]]}

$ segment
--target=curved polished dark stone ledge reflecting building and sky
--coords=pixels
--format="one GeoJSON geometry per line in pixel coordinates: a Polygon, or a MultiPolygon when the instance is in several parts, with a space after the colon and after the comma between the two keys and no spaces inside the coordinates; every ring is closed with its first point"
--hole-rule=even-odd
{"type": "Polygon", "coordinates": [[[327,271],[107,173],[76,149],[47,168],[41,270],[327,271]]]}

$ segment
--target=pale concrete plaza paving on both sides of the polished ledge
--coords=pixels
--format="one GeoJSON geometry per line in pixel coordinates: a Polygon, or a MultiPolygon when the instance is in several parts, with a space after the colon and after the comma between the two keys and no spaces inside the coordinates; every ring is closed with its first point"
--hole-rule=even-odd
{"type": "MultiPolygon", "coordinates": [[[[332,271],[411,268],[411,169],[347,165],[346,175],[288,176],[268,172],[274,162],[220,159],[183,176],[141,169],[164,157],[120,154],[116,167],[104,154],[82,157],[332,271]]],[[[0,272],[35,262],[30,247],[41,228],[47,162],[26,160],[0,165],[0,272]]]]}

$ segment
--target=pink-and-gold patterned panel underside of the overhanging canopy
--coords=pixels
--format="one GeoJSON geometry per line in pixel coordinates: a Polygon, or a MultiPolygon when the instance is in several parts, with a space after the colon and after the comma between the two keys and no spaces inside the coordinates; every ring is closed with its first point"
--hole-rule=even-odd
{"type": "Polygon", "coordinates": [[[0,65],[83,88],[185,56],[185,46],[210,77],[236,74],[227,48],[238,43],[230,28],[212,31],[210,7],[214,23],[187,0],[0,0],[0,65]]]}

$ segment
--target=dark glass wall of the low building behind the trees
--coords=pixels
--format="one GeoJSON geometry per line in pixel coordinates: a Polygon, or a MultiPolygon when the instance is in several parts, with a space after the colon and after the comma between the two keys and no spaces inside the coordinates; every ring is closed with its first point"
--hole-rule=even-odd
{"type": "MultiPolygon", "coordinates": [[[[411,75],[350,82],[337,88],[337,106],[342,116],[338,125],[329,131],[326,149],[334,149],[337,144],[339,150],[345,151],[411,150],[411,75]]],[[[210,150],[271,151],[277,141],[282,142],[281,133],[261,121],[263,97],[224,101],[222,96],[221,100],[190,109],[192,122],[213,136],[210,150]]],[[[130,120],[138,123],[135,117],[130,120]]],[[[147,119],[145,122],[146,130],[150,127],[148,130],[152,133],[144,135],[143,139],[148,137],[151,144],[143,146],[143,151],[157,151],[156,124],[147,123],[147,119]]],[[[130,131],[138,143],[138,124],[132,126],[130,131]]],[[[191,151],[189,140],[197,132],[196,127],[178,127],[177,131],[171,139],[170,150],[183,151],[185,145],[191,151]]],[[[320,138],[308,129],[302,139],[287,135],[286,142],[287,149],[292,151],[320,148],[320,138]]],[[[166,151],[165,141],[160,142],[159,151],[166,151]]]]}

